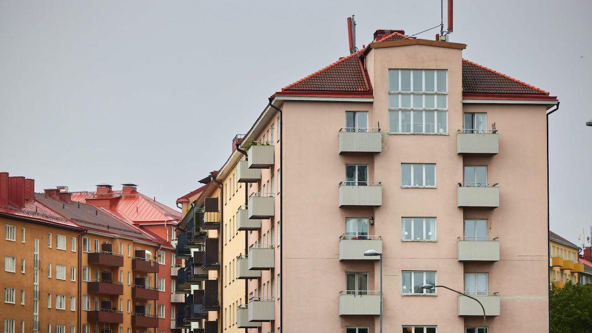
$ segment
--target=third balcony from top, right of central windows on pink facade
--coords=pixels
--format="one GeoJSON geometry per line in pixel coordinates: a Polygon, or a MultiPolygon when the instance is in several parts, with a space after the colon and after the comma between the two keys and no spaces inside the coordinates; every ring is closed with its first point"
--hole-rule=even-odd
{"type": "Polygon", "coordinates": [[[458,261],[500,261],[497,237],[459,237],[456,249],[458,261]]]}

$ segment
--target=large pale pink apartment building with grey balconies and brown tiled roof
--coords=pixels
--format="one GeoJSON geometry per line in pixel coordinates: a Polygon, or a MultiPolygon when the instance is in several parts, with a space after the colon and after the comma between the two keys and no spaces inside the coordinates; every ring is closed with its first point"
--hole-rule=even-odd
{"type": "Polygon", "coordinates": [[[206,216],[218,198],[215,331],[548,331],[558,101],[465,47],[377,30],[269,98],[192,207],[206,216]],[[422,287],[436,284],[480,300],[485,327],[475,300],[422,287]]]}

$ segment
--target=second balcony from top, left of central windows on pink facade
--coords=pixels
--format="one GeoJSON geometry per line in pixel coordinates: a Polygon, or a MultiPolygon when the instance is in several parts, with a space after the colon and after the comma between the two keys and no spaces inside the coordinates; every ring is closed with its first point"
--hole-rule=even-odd
{"type": "Polygon", "coordinates": [[[339,207],[344,206],[382,206],[381,182],[340,182],[339,207]]]}

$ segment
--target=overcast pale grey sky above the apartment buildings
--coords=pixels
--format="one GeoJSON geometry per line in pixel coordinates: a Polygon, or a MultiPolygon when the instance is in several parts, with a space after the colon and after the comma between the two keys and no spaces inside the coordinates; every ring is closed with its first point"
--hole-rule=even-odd
{"type": "MultiPolygon", "coordinates": [[[[551,229],[576,244],[592,224],[590,12],[590,1],[456,0],[451,35],[465,58],[561,100],[551,229]]],[[[134,182],[175,206],[269,95],[348,54],[351,14],[361,47],[377,28],[439,24],[440,1],[2,0],[0,171],[37,191],[134,182]]]]}

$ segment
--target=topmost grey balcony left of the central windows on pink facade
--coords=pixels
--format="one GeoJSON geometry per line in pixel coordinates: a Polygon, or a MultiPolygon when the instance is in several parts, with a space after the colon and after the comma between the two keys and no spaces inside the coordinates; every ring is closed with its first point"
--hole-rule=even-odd
{"type": "Polygon", "coordinates": [[[382,133],[380,129],[339,130],[339,153],[379,153],[382,152],[382,133]]]}

